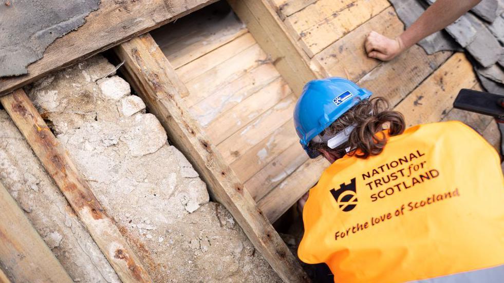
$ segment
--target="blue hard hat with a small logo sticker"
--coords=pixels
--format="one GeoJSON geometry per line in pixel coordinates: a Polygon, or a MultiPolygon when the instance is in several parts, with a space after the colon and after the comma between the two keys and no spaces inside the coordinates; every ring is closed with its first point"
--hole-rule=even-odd
{"type": "Polygon", "coordinates": [[[341,77],[314,79],[305,85],[294,109],[294,126],[310,158],[320,155],[308,148],[310,140],[371,94],[341,77]]]}

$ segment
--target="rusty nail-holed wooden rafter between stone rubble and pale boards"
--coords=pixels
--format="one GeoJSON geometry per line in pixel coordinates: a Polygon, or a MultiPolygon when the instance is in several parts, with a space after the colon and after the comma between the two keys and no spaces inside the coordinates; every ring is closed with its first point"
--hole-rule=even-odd
{"type": "Polygon", "coordinates": [[[284,281],[308,281],[285,242],[190,116],[181,98],[188,90],[173,84],[179,78],[152,37],[139,36],[115,51],[125,60],[129,82],[158,117],[172,143],[188,157],[212,195],[231,212],[254,247],[284,281]]]}

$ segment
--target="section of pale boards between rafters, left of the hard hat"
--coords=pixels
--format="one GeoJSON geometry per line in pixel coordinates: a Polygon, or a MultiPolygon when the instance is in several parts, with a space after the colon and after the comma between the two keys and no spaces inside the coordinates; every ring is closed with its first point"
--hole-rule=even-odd
{"type": "Polygon", "coordinates": [[[246,189],[259,199],[306,160],[304,153],[300,158],[293,154],[298,151],[288,150],[297,141],[292,123],[296,96],[247,29],[229,39],[228,27],[210,21],[216,27],[198,31],[201,18],[207,17],[204,10],[198,14],[172,24],[180,30],[155,31],[156,39],[166,57],[180,65],[176,72],[188,89],[184,103],[190,113],[238,179],[252,179],[246,189]],[[211,48],[199,42],[209,36],[211,48]],[[291,161],[291,169],[279,168],[291,161]]]}

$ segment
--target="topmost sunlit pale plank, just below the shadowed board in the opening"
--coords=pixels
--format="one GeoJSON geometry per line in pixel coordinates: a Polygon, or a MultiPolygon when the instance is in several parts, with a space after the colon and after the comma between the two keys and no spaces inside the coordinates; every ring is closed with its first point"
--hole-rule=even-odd
{"type": "Polygon", "coordinates": [[[186,64],[177,69],[177,74],[183,83],[187,83],[195,77],[207,72],[215,66],[226,62],[229,58],[255,45],[254,37],[246,33],[234,41],[221,46],[207,54],[204,54],[197,60],[186,64]]]}

